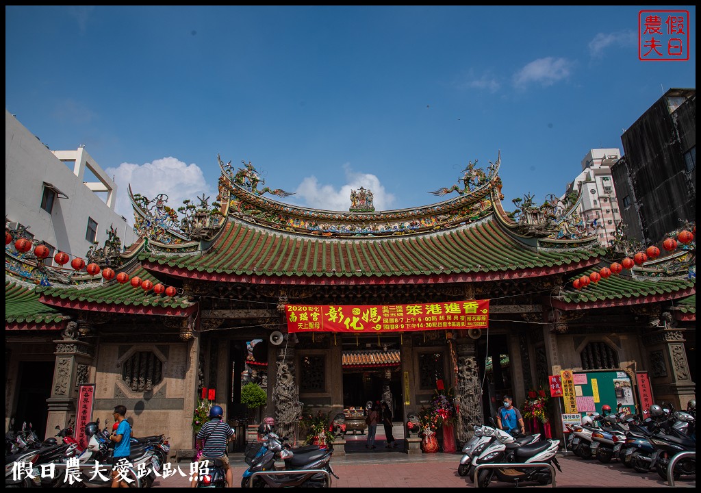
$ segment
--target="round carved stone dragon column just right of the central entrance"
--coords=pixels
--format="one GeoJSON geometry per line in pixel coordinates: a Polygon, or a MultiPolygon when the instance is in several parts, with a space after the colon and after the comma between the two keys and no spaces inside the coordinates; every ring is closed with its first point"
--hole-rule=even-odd
{"type": "Polygon", "coordinates": [[[460,406],[460,414],[458,414],[455,431],[460,445],[472,438],[476,424],[484,422],[482,385],[479,383],[476,350],[475,339],[469,337],[456,339],[458,355],[456,402],[460,406]]]}

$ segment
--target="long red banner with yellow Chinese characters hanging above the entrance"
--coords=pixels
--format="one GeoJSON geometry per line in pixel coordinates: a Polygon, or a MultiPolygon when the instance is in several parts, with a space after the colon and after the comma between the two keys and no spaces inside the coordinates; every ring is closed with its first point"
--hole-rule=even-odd
{"type": "Polygon", "coordinates": [[[407,332],[489,327],[489,300],[407,305],[285,305],[290,332],[407,332]]]}

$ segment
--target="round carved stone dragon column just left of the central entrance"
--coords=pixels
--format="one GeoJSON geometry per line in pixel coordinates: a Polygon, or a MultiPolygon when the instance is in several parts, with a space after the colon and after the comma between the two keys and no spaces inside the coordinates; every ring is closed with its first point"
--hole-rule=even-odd
{"type": "Polygon", "coordinates": [[[295,383],[297,372],[294,367],[294,346],[296,343],[297,337],[290,334],[287,342],[279,346],[273,388],[275,427],[278,428],[278,435],[289,437],[290,442],[296,442],[298,439],[298,423],[302,411],[302,403],[299,402],[299,386],[295,383]]]}

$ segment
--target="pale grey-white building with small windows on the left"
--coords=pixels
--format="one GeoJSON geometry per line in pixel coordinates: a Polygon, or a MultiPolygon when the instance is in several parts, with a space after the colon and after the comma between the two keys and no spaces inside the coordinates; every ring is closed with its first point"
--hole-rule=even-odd
{"type": "Polygon", "coordinates": [[[114,227],[122,245],[136,234],[114,210],[117,186],[82,146],[50,151],[5,110],[5,216],[8,226],[29,227],[27,236],[57,251],[85,258],[114,227]],[[88,170],[90,173],[88,173],[88,170]],[[97,180],[97,181],[88,181],[97,180]]]}

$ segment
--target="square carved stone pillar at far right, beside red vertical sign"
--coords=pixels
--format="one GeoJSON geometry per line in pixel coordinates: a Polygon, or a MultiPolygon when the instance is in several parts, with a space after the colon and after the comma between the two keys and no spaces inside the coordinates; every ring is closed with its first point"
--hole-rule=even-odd
{"type": "Polygon", "coordinates": [[[664,400],[674,404],[676,409],[686,409],[686,404],[695,398],[696,393],[684,342],[683,329],[679,328],[655,330],[643,337],[655,402],[664,400]]]}

